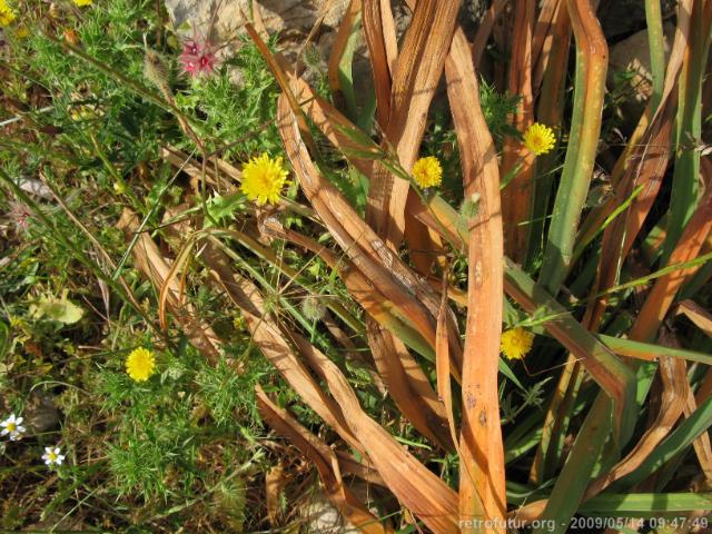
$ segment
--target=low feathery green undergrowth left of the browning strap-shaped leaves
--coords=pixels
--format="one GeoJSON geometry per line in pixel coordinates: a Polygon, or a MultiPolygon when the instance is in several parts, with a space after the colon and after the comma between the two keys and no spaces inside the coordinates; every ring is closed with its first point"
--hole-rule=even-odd
{"type": "MultiPolygon", "coordinates": [[[[76,513],[118,530],[175,530],[206,517],[219,528],[258,524],[264,503],[247,510],[246,494],[263,484],[270,459],[256,442],[253,389],[271,367],[205,291],[189,298],[221,322],[228,343],[217,366],[179,332],[148,327],[158,294],[122,259],[135,245],[116,228],[126,207],[151,231],[160,227],[184,201],[185,184],[160,149],[195,148],[144,77],[147,46],[156,46],[155,2],[61,6],[51,17],[42,2],[23,10],[31,31],[8,33],[0,73],[14,102],[0,120],[20,118],[0,139],[0,415],[24,417],[28,432],[3,443],[11,464],[0,482],[2,527],[42,517],[62,528],[76,513]],[[40,179],[42,196],[21,194],[40,179]],[[141,344],[154,347],[156,368],[135,382],[126,359],[141,344]],[[42,392],[44,412],[30,392],[42,392]],[[55,445],[66,458],[44,465],[42,451],[55,445]],[[17,487],[27,488],[19,501],[17,487]]],[[[176,40],[159,31],[159,53],[176,57],[176,40]]],[[[277,90],[254,44],[236,49],[209,78],[169,79],[178,111],[206,146],[239,161],[277,150],[277,90]]]]}

